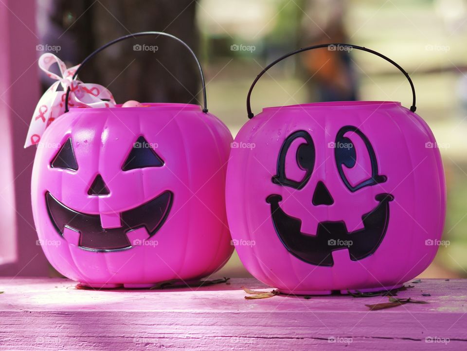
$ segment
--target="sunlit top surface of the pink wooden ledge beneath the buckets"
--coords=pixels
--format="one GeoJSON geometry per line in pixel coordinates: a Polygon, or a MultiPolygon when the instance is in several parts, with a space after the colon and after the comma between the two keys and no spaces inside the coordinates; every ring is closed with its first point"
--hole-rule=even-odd
{"type": "MultiPolygon", "coordinates": [[[[61,278],[0,278],[0,312],[3,311],[190,311],[190,312],[254,312],[368,313],[365,304],[386,302],[387,297],[356,298],[346,295],[274,296],[262,300],[245,300],[249,289],[270,291],[272,288],[254,278],[233,278],[230,284],[217,284],[202,288],[164,290],[148,289],[76,289],[76,282],[61,278]],[[310,309],[308,309],[310,308],[310,309]]],[[[375,313],[467,313],[467,279],[422,279],[397,297],[424,300],[429,304],[405,305],[375,313]],[[431,296],[422,296],[430,294],[431,296]]],[[[466,315],[467,321],[467,315],[466,315]]]]}

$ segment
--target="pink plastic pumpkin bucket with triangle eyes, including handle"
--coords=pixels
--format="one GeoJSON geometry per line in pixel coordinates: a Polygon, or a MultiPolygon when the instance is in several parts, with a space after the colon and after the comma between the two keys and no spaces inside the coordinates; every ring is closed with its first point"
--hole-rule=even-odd
{"type": "MultiPolygon", "coordinates": [[[[95,53],[150,34],[189,49],[145,32],[95,53]]],[[[231,256],[224,191],[232,135],[207,111],[196,61],[203,110],[67,108],[45,130],[32,207],[44,253],[66,277],[92,287],[147,287],[207,276],[231,256]]]]}

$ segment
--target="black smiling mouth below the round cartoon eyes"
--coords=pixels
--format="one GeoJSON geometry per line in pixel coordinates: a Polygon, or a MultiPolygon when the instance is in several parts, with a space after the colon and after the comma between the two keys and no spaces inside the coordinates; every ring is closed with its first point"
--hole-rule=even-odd
{"type": "Polygon", "coordinates": [[[390,194],[378,194],[377,206],[362,216],[363,229],[348,232],[343,221],[320,222],[314,236],[302,233],[302,221],[288,216],[282,210],[279,205],[282,196],[269,195],[266,202],[271,204],[272,222],[276,233],[292,255],[317,266],[332,266],[332,251],[348,249],[353,261],[363,259],[376,251],[386,234],[389,202],[393,199],[390,194]]]}

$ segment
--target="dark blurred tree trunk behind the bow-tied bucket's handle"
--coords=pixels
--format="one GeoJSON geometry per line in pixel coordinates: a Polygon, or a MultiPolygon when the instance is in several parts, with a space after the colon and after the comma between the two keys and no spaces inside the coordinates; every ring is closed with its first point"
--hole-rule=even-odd
{"type": "MultiPolygon", "coordinates": [[[[196,2],[192,0],[58,0],[49,6],[52,29],[44,41],[61,45],[58,56],[72,64],[112,39],[140,31],[173,34],[198,51],[196,2]]],[[[200,91],[196,64],[185,47],[167,37],[136,37],[117,43],[88,62],[79,78],[108,86],[118,103],[130,99],[199,103],[194,98],[200,91]],[[135,44],[158,50],[134,51],[135,44]]]]}

